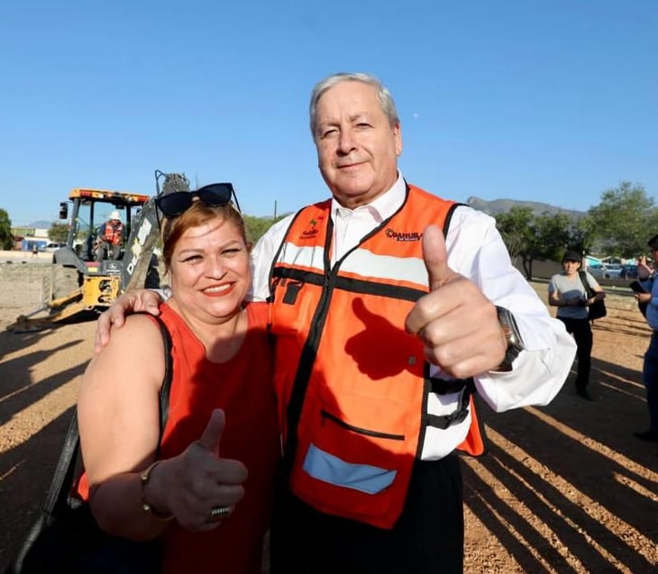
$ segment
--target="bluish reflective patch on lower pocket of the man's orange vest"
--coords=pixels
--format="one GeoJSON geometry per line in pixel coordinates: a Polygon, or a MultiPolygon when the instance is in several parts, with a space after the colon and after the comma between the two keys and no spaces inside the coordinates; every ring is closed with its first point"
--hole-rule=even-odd
{"type": "Polygon", "coordinates": [[[337,487],[352,488],[369,495],[393,484],[397,470],[380,469],[369,464],[353,464],[318,449],[311,443],[304,459],[306,474],[337,487]]]}

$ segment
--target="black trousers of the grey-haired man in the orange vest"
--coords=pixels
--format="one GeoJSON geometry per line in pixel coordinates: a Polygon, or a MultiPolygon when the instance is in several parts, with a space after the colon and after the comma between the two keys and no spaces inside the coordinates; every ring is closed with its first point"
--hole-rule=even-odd
{"type": "Polygon", "coordinates": [[[325,515],[279,486],[270,531],[271,574],[461,574],[459,456],[416,461],[398,523],[382,530],[325,515]]]}

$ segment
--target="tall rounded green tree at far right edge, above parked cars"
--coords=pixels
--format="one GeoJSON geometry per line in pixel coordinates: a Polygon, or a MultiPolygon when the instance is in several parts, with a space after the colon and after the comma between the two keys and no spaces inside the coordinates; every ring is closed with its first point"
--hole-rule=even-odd
{"type": "Polygon", "coordinates": [[[588,215],[597,247],[608,255],[635,257],[646,251],[647,239],[658,231],[653,198],[629,181],[604,191],[588,215]]]}

